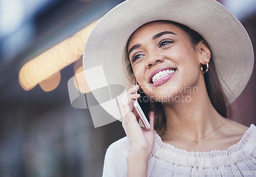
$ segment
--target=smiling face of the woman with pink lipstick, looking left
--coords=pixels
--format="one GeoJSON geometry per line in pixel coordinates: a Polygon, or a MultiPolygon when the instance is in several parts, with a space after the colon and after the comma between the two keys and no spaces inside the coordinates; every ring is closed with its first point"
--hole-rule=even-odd
{"type": "Polygon", "coordinates": [[[204,82],[201,44],[194,49],[186,32],[173,24],[152,22],[136,30],[127,51],[143,92],[165,102],[170,96],[186,94],[185,87],[204,82]]]}

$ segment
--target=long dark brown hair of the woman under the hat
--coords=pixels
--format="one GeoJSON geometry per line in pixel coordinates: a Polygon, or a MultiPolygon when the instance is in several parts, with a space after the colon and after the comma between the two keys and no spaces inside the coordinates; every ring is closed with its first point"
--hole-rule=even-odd
{"type": "MultiPolygon", "coordinates": [[[[150,22],[150,23],[152,23],[152,22],[150,22]]],[[[198,32],[190,29],[189,27],[179,24],[179,23],[176,23],[174,21],[157,20],[154,22],[175,25],[186,32],[186,34],[189,36],[190,42],[191,42],[192,46],[194,47],[194,49],[195,49],[195,46],[200,41],[203,40],[205,45],[210,50],[210,47],[208,46],[208,43],[204,40],[204,38],[198,32]]],[[[147,23],[147,24],[150,24],[150,23],[147,23]]],[[[144,24],[143,26],[145,26],[147,24],[144,24]]],[[[128,41],[128,43],[129,43],[129,41],[128,41]]],[[[225,95],[222,85],[220,83],[212,55],[211,55],[211,58],[209,61],[209,66],[210,66],[210,69],[208,70],[208,72],[204,73],[204,81],[205,81],[206,90],[207,90],[209,99],[211,101],[211,104],[214,106],[214,108],[217,110],[217,112],[221,116],[223,116],[225,118],[231,118],[232,117],[232,107],[231,107],[231,104],[228,101],[228,98],[225,95]]],[[[154,102],[150,101],[150,110],[153,110],[155,112],[154,128],[155,129],[164,128],[166,125],[166,118],[165,118],[162,103],[156,102],[156,101],[154,101],[154,102]]]]}

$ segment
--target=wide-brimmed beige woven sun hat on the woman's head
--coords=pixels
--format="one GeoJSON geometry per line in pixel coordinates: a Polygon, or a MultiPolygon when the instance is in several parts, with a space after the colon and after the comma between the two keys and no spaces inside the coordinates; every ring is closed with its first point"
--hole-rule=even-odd
{"type": "Polygon", "coordinates": [[[129,89],[133,72],[126,43],[136,29],[154,20],[175,21],[201,34],[210,46],[229,101],[241,94],[253,69],[251,41],[240,21],[216,0],[127,0],[119,4],[89,35],[83,69],[102,65],[108,84],[129,89]]]}

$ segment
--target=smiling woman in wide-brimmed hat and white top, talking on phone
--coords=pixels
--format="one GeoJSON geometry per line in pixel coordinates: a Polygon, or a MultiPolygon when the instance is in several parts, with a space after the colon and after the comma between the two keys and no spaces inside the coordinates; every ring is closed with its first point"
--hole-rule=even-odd
{"type": "Polygon", "coordinates": [[[256,127],[230,120],[230,102],[252,72],[252,46],[218,2],[125,1],[88,38],[84,69],[99,63],[109,84],[129,88],[127,137],[108,148],[103,176],[256,174],[256,127]],[[133,77],[156,101],[150,129],[134,112],[133,77]]]}

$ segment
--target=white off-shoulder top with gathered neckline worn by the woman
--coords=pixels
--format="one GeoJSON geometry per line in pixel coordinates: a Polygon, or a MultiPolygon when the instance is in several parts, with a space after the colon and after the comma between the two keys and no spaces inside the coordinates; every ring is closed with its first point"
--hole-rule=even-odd
{"type": "MultiPolygon", "coordinates": [[[[106,151],[103,176],[126,176],[127,137],[106,151]]],[[[227,150],[194,152],[163,143],[155,131],[155,145],[147,176],[256,176],[256,126],[251,124],[242,139],[227,150]]]]}

